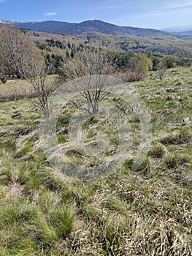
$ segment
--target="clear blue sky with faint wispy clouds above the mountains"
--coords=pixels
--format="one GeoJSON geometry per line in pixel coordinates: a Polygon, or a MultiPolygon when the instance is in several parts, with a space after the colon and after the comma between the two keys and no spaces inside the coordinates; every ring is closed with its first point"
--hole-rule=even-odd
{"type": "Polygon", "coordinates": [[[192,0],[0,0],[0,20],[95,19],[153,29],[192,26],[192,0]]]}

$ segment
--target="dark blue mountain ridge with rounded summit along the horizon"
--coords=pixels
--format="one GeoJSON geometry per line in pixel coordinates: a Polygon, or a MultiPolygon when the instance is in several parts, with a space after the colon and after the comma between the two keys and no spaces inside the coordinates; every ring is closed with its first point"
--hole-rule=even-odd
{"type": "Polygon", "coordinates": [[[42,31],[52,34],[89,34],[101,33],[112,34],[116,36],[132,35],[137,37],[169,37],[170,34],[156,29],[141,29],[131,26],[117,26],[101,20],[86,20],[81,23],[67,23],[62,21],[41,21],[41,22],[10,22],[9,20],[0,20],[0,23],[18,26],[20,29],[31,29],[33,31],[42,31]]]}

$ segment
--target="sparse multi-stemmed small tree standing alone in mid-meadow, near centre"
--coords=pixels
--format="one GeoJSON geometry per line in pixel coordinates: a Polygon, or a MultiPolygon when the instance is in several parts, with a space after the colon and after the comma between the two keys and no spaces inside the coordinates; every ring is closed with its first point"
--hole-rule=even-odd
{"type": "Polygon", "coordinates": [[[82,108],[86,104],[86,108],[83,108],[88,113],[96,113],[99,110],[99,102],[107,96],[106,89],[114,83],[114,81],[111,82],[107,78],[107,75],[113,75],[114,72],[114,60],[110,59],[110,56],[107,56],[106,53],[102,53],[101,50],[95,52],[83,50],[74,59],[66,60],[61,69],[59,83],[85,77],[85,83],[74,82],[71,88],[67,88],[66,91],[79,92],[82,99],[84,99],[70,101],[76,108],[82,108]],[[99,77],[99,75],[101,76],[99,77]]]}

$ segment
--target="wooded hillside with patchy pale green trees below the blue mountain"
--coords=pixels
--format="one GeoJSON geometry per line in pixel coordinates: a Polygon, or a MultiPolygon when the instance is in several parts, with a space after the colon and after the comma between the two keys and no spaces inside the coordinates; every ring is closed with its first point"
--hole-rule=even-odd
{"type": "Polygon", "coordinates": [[[115,50],[121,53],[158,53],[164,55],[174,55],[181,58],[192,58],[192,37],[166,37],[149,38],[135,36],[114,36],[110,34],[82,34],[82,35],[59,35],[45,32],[25,31],[28,37],[42,45],[42,48],[50,48],[54,53],[64,53],[71,50],[70,45],[83,47],[103,47],[108,50],[115,50]],[[60,45],[54,45],[47,42],[60,41],[60,45]],[[70,43],[70,45],[69,45],[70,43]],[[64,46],[61,49],[61,44],[64,46]],[[69,46],[69,47],[68,47],[69,46]]]}

